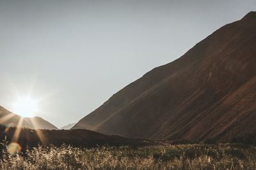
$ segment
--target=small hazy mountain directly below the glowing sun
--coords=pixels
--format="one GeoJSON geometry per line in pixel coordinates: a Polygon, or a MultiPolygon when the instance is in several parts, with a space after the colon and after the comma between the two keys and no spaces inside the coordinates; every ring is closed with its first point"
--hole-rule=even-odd
{"type": "Polygon", "coordinates": [[[43,118],[22,118],[0,106],[0,124],[12,127],[27,127],[29,129],[58,129],[43,118]]]}

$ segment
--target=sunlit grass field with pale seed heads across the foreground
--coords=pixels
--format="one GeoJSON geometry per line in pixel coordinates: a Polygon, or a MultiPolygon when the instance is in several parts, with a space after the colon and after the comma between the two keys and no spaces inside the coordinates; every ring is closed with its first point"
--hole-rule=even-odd
{"type": "Polygon", "coordinates": [[[0,169],[256,169],[256,147],[242,144],[19,149],[4,147],[0,169]]]}

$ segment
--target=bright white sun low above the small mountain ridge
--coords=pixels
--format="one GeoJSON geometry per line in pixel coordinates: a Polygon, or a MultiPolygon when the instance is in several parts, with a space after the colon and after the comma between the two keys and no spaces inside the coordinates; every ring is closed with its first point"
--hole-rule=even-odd
{"type": "Polygon", "coordinates": [[[38,104],[30,97],[19,97],[13,103],[13,113],[17,113],[22,117],[33,117],[38,111],[38,104]]]}

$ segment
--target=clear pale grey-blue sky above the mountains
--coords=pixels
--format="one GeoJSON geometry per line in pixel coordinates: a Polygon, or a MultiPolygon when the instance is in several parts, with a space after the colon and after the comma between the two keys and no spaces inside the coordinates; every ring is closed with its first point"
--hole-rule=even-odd
{"type": "Polygon", "coordinates": [[[0,106],[30,96],[33,116],[77,122],[255,10],[255,0],[0,0],[0,106]]]}

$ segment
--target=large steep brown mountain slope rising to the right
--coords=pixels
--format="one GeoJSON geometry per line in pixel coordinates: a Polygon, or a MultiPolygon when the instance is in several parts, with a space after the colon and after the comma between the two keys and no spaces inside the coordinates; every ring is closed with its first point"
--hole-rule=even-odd
{"type": "Polygon", "coordinates": [[[72,129],[164,141],[256,133],[256,12],[124,87],[72,129]]]}

